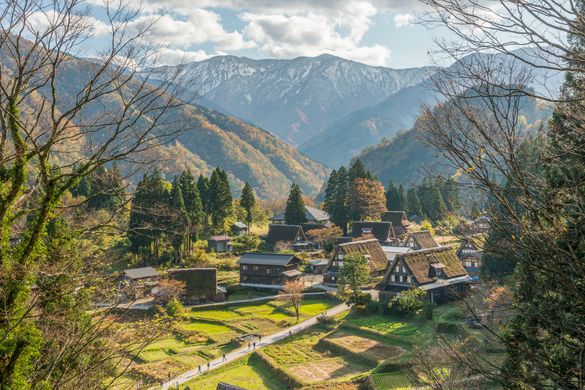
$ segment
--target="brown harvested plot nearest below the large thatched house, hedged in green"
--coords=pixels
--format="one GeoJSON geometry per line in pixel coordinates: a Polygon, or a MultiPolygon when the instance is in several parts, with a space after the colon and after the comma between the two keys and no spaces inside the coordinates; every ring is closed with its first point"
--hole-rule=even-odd
{"type": "Polygon", "coordinates": [[[327,339],[352,353],[364,355],[378,362],[398,357],[406,352],[403,348],[395,345],[388,345],[378,340],[372,340],[370,338],[345,332],[337,332],[327,339]]]}

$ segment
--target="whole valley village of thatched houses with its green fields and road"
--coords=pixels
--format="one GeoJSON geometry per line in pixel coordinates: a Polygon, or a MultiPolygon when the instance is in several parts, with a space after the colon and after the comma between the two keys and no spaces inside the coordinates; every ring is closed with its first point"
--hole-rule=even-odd
{"type": "Polygon", "coordinates": [[[302,212],[298,224],[272,215],[259,234],[233,222],[207,238],[201,267],[124,269],[117,308],[173,318],[129,378],[164,389],[409,388],[404,367],[419,349],[494,321],[462,308],[475,290],[505,295],[481,284],[487,217],[439,235],[390,210],[343,234],[326,211],[302,212]],[[256,249],[238,246],[248,239],[256,249]]]}

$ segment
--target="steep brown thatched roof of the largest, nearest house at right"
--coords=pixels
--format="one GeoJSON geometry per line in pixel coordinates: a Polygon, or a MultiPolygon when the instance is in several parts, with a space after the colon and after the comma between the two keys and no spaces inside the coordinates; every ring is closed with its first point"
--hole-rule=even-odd
{"type": "Polygon", "coordinates": [[[410,271],[413,282],[417,285],[437,281],[439,277],[435,276],[435,269],[442,270],[444,275],[443,279],[467,275],[461,261],[455,255],[455,248],[453,246],[445,246],[397,255],[394,263],[388,267],[384,277],[384,283],[388,283],[390,271],[394,267],[394,264],[401,260],[410,271]]]}

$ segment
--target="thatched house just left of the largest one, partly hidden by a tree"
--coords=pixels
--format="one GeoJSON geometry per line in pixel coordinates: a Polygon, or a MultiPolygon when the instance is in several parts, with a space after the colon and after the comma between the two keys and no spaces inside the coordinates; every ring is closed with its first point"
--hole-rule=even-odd
{"type": "Polygon", "coordinates": [[[339,272],[343,267],[345,256],[350,253],[359,253],[366,257],[372,277],[384,274],[388,264],[386,255],[382,251],[380,242],[375,238],[359,240],[337,245],[331,253],[327,270],[323,274],[323,283],[336,285],[339,283],[339,272]]]}

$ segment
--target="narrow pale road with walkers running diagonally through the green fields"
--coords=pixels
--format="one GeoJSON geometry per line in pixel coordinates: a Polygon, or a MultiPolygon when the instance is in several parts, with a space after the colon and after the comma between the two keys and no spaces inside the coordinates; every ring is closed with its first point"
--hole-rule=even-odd
{"type": "MultiPolygon", "coordinates": [[[[256,349],[265,347],[267,345],[273,344],[277,341],[280,341],[282,339],[285,339],[287,337],[289,337],[291,334],[294,333],[298,333],[302,330],[305,330],[307,328],[310,328],[311,326],[315,325],[317,323],[317,317],[319,317],[320,315],[327,315],[327,316],[334,316],[337,315],[339,313],[343,313],[344,311],[349,310],[349,306],[347,306],[345,303],[339,304],[337,306],[332,307],[331,309],[315,316],[315,317],[311,317],[308,320],[305,320],[299,324],[293,325],[289,328],[283,329],[277,333],[271,334],[269,336],[262,336],[262,341],[256,341],[256,349]]],[[[236,350],[233,350],[230,353],[227,353],[225,355],[225,361],[220,357],[218,359],[212,360],[210,361],[210,366],[209,366],[209,371],[212,371],[218,367],[223,366],[224,364],[227,364],[229,362],[233,362],[234,360],[237,360],[241,357],[244,357],[250,353],[254,352],[253,349],[248,349],[248,346],[245,345],[241,348],[238,348],[236,350]]],[[[179,376],[177,376],[176,378],[171,379],[168,382],[163,383],[162,388],[163,390],[166,389],[174,389],[177,385],[183,384],[185,382],[190,381],[191,379],[206,373],[207,370],[207,366],[201,366],[201,372],[199,372],[197,370],[197,368],[191,370],[191,371],[187,371],[179,376]]]]}

